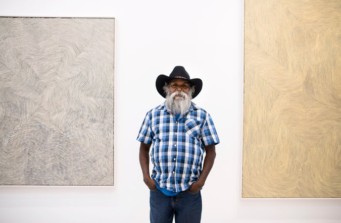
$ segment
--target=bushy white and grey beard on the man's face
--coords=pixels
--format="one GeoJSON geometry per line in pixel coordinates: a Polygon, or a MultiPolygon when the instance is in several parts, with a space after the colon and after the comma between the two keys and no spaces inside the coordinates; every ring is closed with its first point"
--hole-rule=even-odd
{"type": "Polygon", "coordinates": [[[187,112],[191,105],[192,97],[184,93],[183,91],[175,91],[171,95],[167,93],[166,95],[166,107],[167,110],[175,115],[175,114],[184,114],[187,112]],[[178,97],[176,95],[181,95],[181,97],[178,97]]]}

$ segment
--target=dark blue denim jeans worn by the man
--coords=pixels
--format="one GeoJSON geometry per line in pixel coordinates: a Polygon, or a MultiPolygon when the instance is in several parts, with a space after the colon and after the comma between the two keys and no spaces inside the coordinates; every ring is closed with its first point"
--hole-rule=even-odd
{"type": "Polygon", "coordinates": [[[202,200],[200,191],[196,194],[188,190],[175,196],[167,196],[159,189],[150,191],[151,223],[171,223],[175,215],[176,223],[199,223],[202,200]]]}

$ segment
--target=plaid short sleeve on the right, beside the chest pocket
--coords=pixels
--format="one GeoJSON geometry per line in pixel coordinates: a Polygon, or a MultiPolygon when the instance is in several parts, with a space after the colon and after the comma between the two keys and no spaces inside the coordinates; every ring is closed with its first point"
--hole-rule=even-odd
{"type": "Polygon", "coordinates": [[[201,135],[204,146],[217,145],[220,142],[213,120],[209,114],[207,114],[206,121],[201,129],[201,135]]]}

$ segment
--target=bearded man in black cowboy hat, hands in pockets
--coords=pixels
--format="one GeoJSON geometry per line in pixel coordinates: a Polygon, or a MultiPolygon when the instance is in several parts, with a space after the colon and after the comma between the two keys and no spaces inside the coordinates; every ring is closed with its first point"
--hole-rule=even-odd
{"type": "Polygon", "coordinates": [[[166,101],[147,113],[137,136],[143,181],[150,189],[151,222],[172,222],[174,215],[175,222],[200,222],[200,190],[219,143],[210,115],[191,102],[202,86],[201,79],[190,79],[181,66],[156,80],[156,88],[166,101]],[[151,145],[154,168],[150,177],[151,145]]]}

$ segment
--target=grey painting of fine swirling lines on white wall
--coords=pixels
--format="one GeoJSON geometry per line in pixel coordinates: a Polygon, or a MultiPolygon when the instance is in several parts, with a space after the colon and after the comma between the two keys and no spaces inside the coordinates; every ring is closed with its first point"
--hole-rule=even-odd
{"type": "Polygon", "coordinates": [[[114,185],[114,19],[0,17],[0,185],[114,185]]]}

